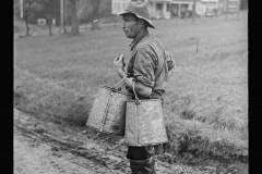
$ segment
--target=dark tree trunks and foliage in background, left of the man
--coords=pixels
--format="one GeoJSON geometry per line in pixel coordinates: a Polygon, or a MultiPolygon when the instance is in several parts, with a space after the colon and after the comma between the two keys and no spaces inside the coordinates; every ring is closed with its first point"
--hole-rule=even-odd
{"type": "MultiPolygon", "coordinates": [[[[52,0],[14,0],[14,11],[19,12],[23,9],[23,20],[25,22],[26,36],[29,36],[29,17],[34,15],[36,12],[41,12],[44,8],[48,8],[48,1],[52,0]]],[[[92,23],[91,29],[99,29],[99,25],[96,22],[97,18],[102,16],[108,16],[110,14],[110,0],[62,0],[63,4],[67,4],[67,11],[63,20],[63,24],[71,26],[71,30],[68,32],[66,27],[63,27],[64,34],[70,35],[79,35],[80,30],[80,21],[85,21],[92,23]],[[70,12],[70,14],[69,14],[70,12]],[[71,17],[70,24],[68,17],[71,17]]],[[[61,2],[61,1],[60,1],[61,2]]],[[[50,4],[49,4],[50,5],[50,4]]],[[[46,24],[49,29],[49,35],[52,36],[52,22],[53,18],[50,12],[46,12],[44,14],[44,18],[46,20],[46,24]]]]}

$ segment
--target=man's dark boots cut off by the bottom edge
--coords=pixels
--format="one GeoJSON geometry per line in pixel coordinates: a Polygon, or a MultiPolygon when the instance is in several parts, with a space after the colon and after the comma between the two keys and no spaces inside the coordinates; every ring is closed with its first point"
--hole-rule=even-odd
{"type": "Polygon", "coordinates": [[[156,174],[155,161],[155,157],[146,160],[130,160],[132,174],[156,174]]]}

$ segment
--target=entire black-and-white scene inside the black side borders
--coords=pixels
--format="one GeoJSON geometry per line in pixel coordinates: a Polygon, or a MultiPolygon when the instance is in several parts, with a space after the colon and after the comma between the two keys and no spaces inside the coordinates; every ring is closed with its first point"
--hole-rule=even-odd
{"type": "Polygon", "coordinates": [[[13,0],[14,174],[248,174],[248,0],[13,0]]]}

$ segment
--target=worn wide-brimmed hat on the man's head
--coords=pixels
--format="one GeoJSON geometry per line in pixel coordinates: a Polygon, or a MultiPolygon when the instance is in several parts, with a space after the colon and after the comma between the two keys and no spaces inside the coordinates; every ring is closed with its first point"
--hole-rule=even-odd
{"type": "Polygon", "coordinates": [[[127,13],[133,13],[139,18],[143,18],[148,23],[148,27],[155,28],[151,21],[151,14],[150,14],[150,5],[147,0],[131,0],[128,3],[127,9],[124,9],[123,12],[117,14],[117,15],[123,15],[127,13]]]}

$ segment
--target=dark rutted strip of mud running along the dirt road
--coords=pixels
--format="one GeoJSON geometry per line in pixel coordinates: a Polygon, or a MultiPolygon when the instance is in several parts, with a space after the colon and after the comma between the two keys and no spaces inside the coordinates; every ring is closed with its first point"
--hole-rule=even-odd
{"type": "Polygon", "coordinates": [[[68,161],[85,167],[94,170],[97,173],[129,173],[128,162],[124,160],[111,160],[108,158],[107,152],[98,151],[96,149],[85,149],[81,144],[75,141],[67,141],[53,137],[49,134],[41,133],[40,135],[34,130],[27,130],[24,127],[15,126],[20,129],[21,135],[34,139],[38,142],[46,142],[52,147],[53,151],[70,152],[75,158],[68,159],[68,161]]]}

